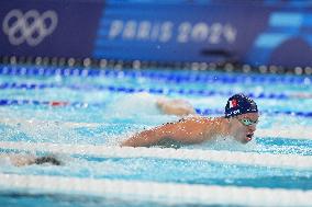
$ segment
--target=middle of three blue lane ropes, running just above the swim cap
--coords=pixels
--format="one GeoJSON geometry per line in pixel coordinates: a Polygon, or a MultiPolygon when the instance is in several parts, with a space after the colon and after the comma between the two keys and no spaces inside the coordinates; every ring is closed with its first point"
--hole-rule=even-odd
{"type": "MultiPolygon", "coordinates": [[[[153,88],[131,88],[131,87],[114,87],[114,85],[62,85],[55,83],[9,83],[4,82],[0,84],[0,90],[8,89],[21,89],[21,90],[43,90],[43,89],[60,89],[68,88],[71,90],[99,90],[99,91],[110,91],[110,92],[122,92],[122,93],[137,93],[137,92],[148,92],[153,94],[181,94],[181,95],[200,95],[200,96],[213,96],[213,95],[222,95],[222,96],[231,96],[234,92],[232,91],[213,91],[213,90],[193,90],[193,89],[153,89],[153,88]]],[[[287,95],[285,93],[246,93],[248,96],[253,99],[272,99],[272,100],[286,100],[291,99],[292,96],[287,95]]]]}

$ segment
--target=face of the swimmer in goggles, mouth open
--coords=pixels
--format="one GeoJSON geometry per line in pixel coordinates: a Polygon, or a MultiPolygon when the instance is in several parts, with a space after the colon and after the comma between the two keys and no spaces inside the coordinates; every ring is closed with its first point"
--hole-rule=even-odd
{"type": "Polygon", "coordinates": [[[249,142],[254,137],[258,118],[258,113],[247,113],[232,117],[231,134],[237,141],[242,143],[249,142]]]}

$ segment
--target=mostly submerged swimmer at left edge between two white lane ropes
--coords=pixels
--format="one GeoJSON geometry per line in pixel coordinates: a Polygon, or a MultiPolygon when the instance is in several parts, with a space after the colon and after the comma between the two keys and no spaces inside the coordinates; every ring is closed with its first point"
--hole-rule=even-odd
{"type": "Polygon", "coordinates": [[[24,166],[32,164],[62,165],[62,162],[53,156],[36,157],[31,154],[7,153],[0,154],[0,159],[9,160],[9,162],[15,166],[24,166]]]}

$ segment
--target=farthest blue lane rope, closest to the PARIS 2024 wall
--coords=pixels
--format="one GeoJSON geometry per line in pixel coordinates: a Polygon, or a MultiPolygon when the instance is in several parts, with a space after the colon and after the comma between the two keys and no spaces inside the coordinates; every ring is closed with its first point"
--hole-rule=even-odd
{"type": "Polygon", "coordinates": [[[208,72],[197,73],[183,72],[183,74],[169,73],[167,71],[147,70],[112,70],[112,69],[85,69],[85,68],[56,68],[56,67],[26,67],[26,66],[0,66],[0,74],[10,76],[62,76],[62,77],[129,77],[148,78],[175,83],[285,83],[285,84],[311,84],[310,77],[274,76],[274,74],[212,74],[208,72]]]}

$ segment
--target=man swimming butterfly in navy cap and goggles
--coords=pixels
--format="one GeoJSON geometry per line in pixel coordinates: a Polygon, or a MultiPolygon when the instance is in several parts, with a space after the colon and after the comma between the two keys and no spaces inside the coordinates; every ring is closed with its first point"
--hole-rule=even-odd
{"type": "MultiPolygon", "coordinates": [[[[171,114],[175,112],[170,111],[170,108],[174,108],[170,102],[159,102],[158,106],[165,108],[165,112],[172,112],[171,114]]],[[[253,139],[258,118],[259,114],[256,103],[244,94],[235,94],[226,103],[225,116],[189,116],[175,123],[167,123],[153,129],[141,131],[124,140],[121,146],[159,146],[167,139],[182,145],[192,145],[213,140],[220,136],[232,137],[242,143],[247,143],[253,139]]]]}

